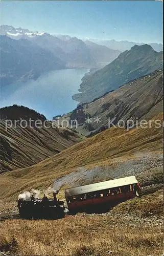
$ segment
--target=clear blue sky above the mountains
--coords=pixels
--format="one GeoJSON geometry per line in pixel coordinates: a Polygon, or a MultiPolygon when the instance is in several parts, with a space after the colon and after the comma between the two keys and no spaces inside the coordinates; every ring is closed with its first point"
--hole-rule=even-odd
{"type": "Polygon", "coordinates": [[[1,24],[79,38],[162,42],[159,1],[1,1],[1,24]]]}

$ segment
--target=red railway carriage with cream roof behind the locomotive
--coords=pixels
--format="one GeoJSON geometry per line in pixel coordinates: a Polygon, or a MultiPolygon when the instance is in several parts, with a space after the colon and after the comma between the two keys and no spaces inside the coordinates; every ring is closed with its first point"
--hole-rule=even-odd
{"type": "Polygon", "coordinates": [[[135,176],[65,189],[69,212],[100,210],[138,196],[140,185],[135,176]]]}

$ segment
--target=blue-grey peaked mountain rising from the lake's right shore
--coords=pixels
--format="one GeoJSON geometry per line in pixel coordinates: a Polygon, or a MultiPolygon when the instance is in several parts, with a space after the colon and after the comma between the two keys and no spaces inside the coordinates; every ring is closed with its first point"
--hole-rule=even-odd
{"type": "Polygon", "coordinates": [[[149,45],[133,46],[103,69],[83,77],[78,94],[73,99],[90,102],[122,84],[163,67],[162,52],[149,45]]]}

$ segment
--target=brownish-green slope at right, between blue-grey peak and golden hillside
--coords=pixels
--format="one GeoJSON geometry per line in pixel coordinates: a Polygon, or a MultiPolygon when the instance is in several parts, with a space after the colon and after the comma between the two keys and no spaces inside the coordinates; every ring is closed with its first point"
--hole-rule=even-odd
{"type": "Polygon", "coordinates": [[[124,121],[146,119],[162,111],[163,107],[163,71],[156,70],[146,76],[123,84],[119,89],[109,92],[90,103],[83,103],[71,113],[59,118],[77,120],[79,125],[76,129],[85,136],[95,134],[108,127],[108,119],[117,123],[124,121]],[[91,123],[86,123],[89,117],[91,123]],[[99,121],[96,122],[96,118],[99,121]]]}

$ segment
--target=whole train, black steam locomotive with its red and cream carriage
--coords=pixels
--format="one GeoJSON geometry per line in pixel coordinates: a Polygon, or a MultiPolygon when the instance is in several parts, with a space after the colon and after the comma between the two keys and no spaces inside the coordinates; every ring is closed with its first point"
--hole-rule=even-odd
{"type": "Polygon", "coordinates": [[[107,210],[119,202],[138,197],[141,187],[135,176],[114,179],[94,184],[65,189],[64,202],[44,197],[30,200],[18,200],[19,215],[21,218],[63,218],[68,211],[69,214],[77,212],[99,212],[107,210]]]}

